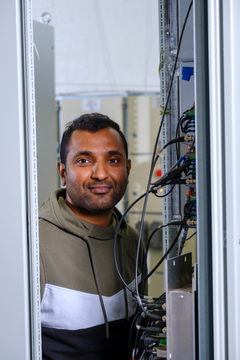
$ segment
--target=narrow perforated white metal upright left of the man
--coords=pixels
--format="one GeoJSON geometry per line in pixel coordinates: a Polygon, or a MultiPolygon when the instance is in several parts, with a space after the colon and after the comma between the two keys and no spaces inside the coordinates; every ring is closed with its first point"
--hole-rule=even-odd
{"type": "Polygon", "coordinates": [[[23,2],[22,36],[24,74],[25,159],[27,172],[28,268],[30,288],[31,359],[41,360],[40,264],[38,236],[37,129],[32,2],[23,2]]]}

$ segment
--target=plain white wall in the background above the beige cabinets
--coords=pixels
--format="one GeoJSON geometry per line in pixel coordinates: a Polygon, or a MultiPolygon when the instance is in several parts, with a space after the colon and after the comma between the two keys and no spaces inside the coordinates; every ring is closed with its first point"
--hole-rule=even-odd
{"type": "Polygon", "coordinates": [[[33,19],[44,12],[55,29],[57,95],[159,91],[157,0],[34,0],[33,19]]]}

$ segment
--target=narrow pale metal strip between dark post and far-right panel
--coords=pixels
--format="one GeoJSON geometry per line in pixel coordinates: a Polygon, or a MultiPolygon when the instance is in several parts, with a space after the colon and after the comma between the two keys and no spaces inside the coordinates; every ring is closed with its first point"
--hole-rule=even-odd
{"type": "Polygon", "coordinates": [[[211,144],[212,268],[214,358],[226,359],[224,278],[224,127],[221,1],[208,2],[211,144]]]}

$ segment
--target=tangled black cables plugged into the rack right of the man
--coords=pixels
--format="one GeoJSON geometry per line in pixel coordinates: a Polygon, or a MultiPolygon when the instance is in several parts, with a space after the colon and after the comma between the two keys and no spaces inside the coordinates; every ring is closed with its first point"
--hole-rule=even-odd
{"type": "MultiPolygon", "coordinates": [[[[134,354],[133,359],[134,360],[147,360],[147,359],[156,359],[158,356],[159,349],[162,348],[164,350],[164,346],[166,349],[166,343],[163,344],[161,341],[166,341],[166,316],[165,316],[165,310],[166,310],[166,304],[165,304],[165,294],[160,296],[159,298],[155,299],[149,299],[146,298],[143,294],[144,289],[144,282],[156,271],[156,269],[162,264],[162,262],[167,258],[173,247],[177,244],[179,237],[182,233],[182,231],[185,231],[185,234],[187,234],[187,229],[190,226],[196,225],[196,201],[192,201],[194,198],[194,194],[192,192],[192,189],[194,186],[191,186],[194,181],[196,182],[196,162],[195,162],[195,152],[194,152],[194,143],[195,143],[195,114],[193,113],[193,109],[188,110],[183,114],[183,116],[179,119],[177,129],[176,129],[176,139],[170,140],[170,142],[160,150],[157,151],[157,145],[159,136],[161,133],[161,129],[163,126],[163,122],[165,120],[165,115],[167,114],[167,106],[170,100],[170,94],[171,89],[173,85],[173,79],[174,79],[174,73],[176,71],[177,66],[177,60],[178,55],[180,51],[181,41],[184,33],[184,29],[186,26],[186,22],[188,19],[188,15],[190,13],[191,7],[192,7],[192,1],[189,5],[186,18],[182,27],[182,31],[179,37],[179,44],[178,49],[176,53],[176,59],[173,67],[173,74],[170,79],[169,84],[169,90],[167,95],[166,104],[162,113],[162,119],[160,122],[158,134],[156,137],[154,150],[153,150],[153,157],[151,162],[151,169],[147,184],[147,190],[145,194],[140,196],[133,204],[131,204],[128,209],[124,212],[122,219],[120,220],[116,234],[114,239],[114,261],[115,266],[119,275],[119,278],[123,282],[124,286],[132,292],[132,296],[134,299],[136,299],[138,303],[137,307],[137,314],[132,322],[131,329],[130,329],[130,347],[129,347],[129,359],[132,360],[132,354],[134,354]],[[187,134],[187,136],[180,136],[180,131],[184,134],[187,134]],[[193,134],[193,136],[191,136],[193,134]],[[183,156],[180,157],[180,143],[187,143],[189,145],[188,152],[183,156]],[[155,165],[159,159],[160,154],[162,154],[167,146],[171,146],[173,144],[176,144],[177,149],[177,162],[174,164],[171,169],[169,169],[158,181],[155,183],[152,183],[152,174],[155,168],[155,165]],[[194,155],[193,155],[194,154],[194,155]],[[146,246],[146,256],[144,261],[144,266],[142,269],[142,281],[140,284],[138,283],[138,259],[139,259],[139,251],[140,251],[140,243],[141,243],[141,236],[143,231],[143,223],[146,213],[146,206],[148,201],[148,196],[150,194],[154,194],[157,197],[164,197],[168,196],[174,189],[176,184],[187,184],[190,187],[191,190],[191,199],[192,203],[186,204],[184,207],[184,219],[180,221],[171,221],[168,224],[164,224],[159,226],[157,229],[155,229],[152,234],[149,237],[147,246],[146,246]],[[158,195],[158,189],[167,185],[171,185],[171,189],[167,194],[160,196],[158,195]],[[116,244],[117,244],[117,234],[120,229],[122,220],[127,215],[127,213],[130,211],[130,209],[141,199],[145,198],[144,205],[143,205],[143,211],[142,211],[142,218],[140,222],[140,228],[139,228],[139,240],[138,240],[138,247],[137,247],[137,254],[136,254],[136,266],[135,266],[135,289],[132,290],[124,281],[122,274],[119,271],[117,259],[116,259],[116,244]],[[147,272],[147,254],[149,250],[149,245],[151,242],[151,239],[153,237],[153,234],[156,231],[159,231],[163,227],[166,226],[178,226],[178,231],[176,234],[175,239],[173,240],[172,244],[170,245],[169,249],[165,252],[163,257],[160,259],[160,261],[154,266],[154,268],[149,272],[147,272]],[[165,305],[164,305],[165,304],[165,305]],[[165,308],[163,308],[165,307],[165,308]],[[135,339],[135,340],[133,340],[135,339]]],[[[195,194],[196,195],[196,194],[195,194]]],[[[195,199],[196,200],[196,199],[195,199]]],[[[186,240],[186,236],[182,236],[184,239],[184,242],[186,240]]],[[[183,244],[184,244],[183,242],[183,244]]]]}

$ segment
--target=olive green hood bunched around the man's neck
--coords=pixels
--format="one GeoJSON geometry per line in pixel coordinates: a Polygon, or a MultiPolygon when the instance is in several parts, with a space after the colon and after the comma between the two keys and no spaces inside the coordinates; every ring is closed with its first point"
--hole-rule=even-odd
{"type": "MultiPolygon", "coordinates": [[[[65,199],[65,188],[53,191],[51,196],[43,202],[39,210],[39,219],[46,220],[64,231],[81,237],[83,240],[87,240],[89,237],[99,240],[108,240],[114,237],[118,222],[122,217],[117,208],[113,210],[111,224],[103,228],[79,219],[67,205],[65,199]]],[[[127,223],[123,220],[119,235],[122,236],[126,230],[127,223]]]]}

